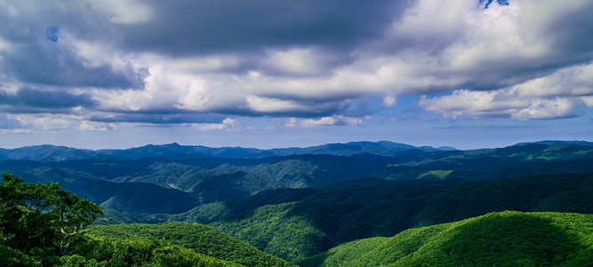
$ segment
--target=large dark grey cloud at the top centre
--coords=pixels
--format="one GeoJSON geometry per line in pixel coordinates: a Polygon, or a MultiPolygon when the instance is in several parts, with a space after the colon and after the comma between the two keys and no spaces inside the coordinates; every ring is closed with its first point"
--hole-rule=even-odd
{"type": "Polygon", "coordinates": [[[351,49],[379,37],[405,1],[151,1],[145,23],[125,25],[130,49],[173,55],[324,46],[351,49]]]}

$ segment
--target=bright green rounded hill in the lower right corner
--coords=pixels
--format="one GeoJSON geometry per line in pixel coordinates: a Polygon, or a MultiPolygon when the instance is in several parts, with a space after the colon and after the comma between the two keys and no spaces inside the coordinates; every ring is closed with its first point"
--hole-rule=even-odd
{"type": "Polygon", "coordinates": [[[590,266],[593,215],[502,212],[362,239],[301,266],[590,266]]]}

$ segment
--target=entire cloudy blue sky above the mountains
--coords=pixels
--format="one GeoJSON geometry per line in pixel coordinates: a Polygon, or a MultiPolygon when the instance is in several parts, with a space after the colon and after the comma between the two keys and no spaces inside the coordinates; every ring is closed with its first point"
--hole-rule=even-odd
{"type": "Polygon", "coordinates": [[[0,147],[593,141],[590,0],[0,0],[0,147]]]}

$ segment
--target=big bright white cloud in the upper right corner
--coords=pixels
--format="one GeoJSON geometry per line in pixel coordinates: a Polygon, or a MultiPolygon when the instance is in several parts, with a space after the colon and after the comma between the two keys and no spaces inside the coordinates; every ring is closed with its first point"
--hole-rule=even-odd
{"type": "Polygon", "coordinates": [[[483,4],[417,1],[394,21],[386,38],[365,51],[369,57],[376,53],[389,57],[379,63],[382,66],[404,65],[401,69],[408,69],[404,82],[425,81],[408,85],[405,93],[443,93],[461,87],[492,90],[545,76],[558,66],[592,60],[584,52],[590,52],[591,45],[579,50],[557,43],[559,39],[589,43],[590,38],[581,40],[583,35],[569,28],[575,21],[590,19],[568,18],[582,10],[593,11],[590,2],[493,2],[487,9],[483,4]],[[561,26],[550,28],[557,24],[561,26]]]}

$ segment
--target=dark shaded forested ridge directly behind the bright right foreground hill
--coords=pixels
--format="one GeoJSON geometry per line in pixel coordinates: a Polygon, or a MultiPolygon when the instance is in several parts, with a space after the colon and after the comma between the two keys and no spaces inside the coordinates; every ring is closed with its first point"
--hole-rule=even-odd
{"type": "Polygon", "coordinates": [[[362,179],[324,189],[263,191],[162,219],[212,222],[213,227],[268,254],[298,261],[343,242],[393,236],[413,227],[491,212],[593,214],[587,202],[592,195],[593,174],[471,183],[362,179]]]}

